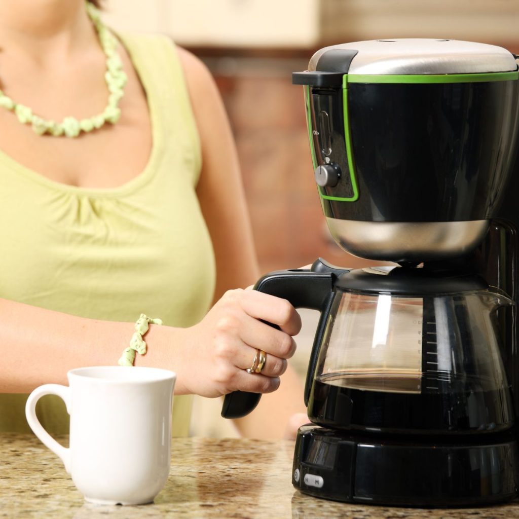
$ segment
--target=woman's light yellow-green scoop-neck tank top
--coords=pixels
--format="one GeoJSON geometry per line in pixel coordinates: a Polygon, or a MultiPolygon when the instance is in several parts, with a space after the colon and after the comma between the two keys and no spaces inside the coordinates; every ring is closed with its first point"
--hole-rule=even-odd
{"type": "MultiPolygon", "coordinates": [[[[121,39],[147,95],[148,163],[120,187],[87,189],[51,181],[0,152],[0,297],[92,319],[134,322],[145,313],[170,326],[192,326],[209,309],[215,284],[214,253],[195,192],[201,165],[196,123],[171,40],[121,39]]],[[[30,431],[26,398],[0,394],[0,431],[30,431]]],[[[174,398],[173,435],[187,435],[191,401],[174,398]]],[[[59,398],[39,404],[49,432],[69,432],[59,398]]]]}

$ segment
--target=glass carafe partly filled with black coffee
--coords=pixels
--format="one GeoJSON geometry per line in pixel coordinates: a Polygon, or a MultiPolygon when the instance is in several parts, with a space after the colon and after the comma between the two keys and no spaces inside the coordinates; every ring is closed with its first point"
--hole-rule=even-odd
{"type": "Polygon", "coordinates": [[[504,293],[338,290],[313,376],[320,425],[396,434],[497,432],[513,425],[495,310],[504,293]]]}

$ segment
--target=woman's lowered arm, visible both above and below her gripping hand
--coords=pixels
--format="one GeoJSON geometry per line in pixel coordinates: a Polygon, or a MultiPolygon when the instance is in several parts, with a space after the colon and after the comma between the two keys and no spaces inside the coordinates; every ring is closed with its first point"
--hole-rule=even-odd
{"type": "MultiPolygon", "coordinates": [[[[206,67],[193,54],[179,51],[202,147],[197,194],[216,255],[216,301],[229,288],[253,284],[260,272],[236,148],[220,94],[206,67]]],[[[251,349],[249,364],[253,357],[251,349]]],[[[267,356],[267,364],[268,361],[267,356]]],[[[292,415],[303,412],[306,416],[303,387],[289,367],[280,389],[262,397],[257,409],[236,420],[236,425],[246,436],[281,438],[287,427],[295,430],[301,425],[301,417],[295,425],[288,422],[292,415]]]]}

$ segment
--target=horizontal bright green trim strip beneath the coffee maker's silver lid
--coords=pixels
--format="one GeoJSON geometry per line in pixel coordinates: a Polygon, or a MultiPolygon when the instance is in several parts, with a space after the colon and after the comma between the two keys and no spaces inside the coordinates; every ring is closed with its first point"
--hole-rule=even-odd
{"type": "Polygon", "coordinates": [[[489,81],[516,81],[519,72],[489,72],[485,74],[409,74],[367,75],[345,74],[343,88],[348,83],[488,83],[489,81]]]}

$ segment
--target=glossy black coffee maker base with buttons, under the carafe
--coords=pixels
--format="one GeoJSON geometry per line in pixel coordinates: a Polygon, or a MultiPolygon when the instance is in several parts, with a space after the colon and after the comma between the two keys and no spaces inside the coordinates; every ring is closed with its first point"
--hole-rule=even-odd
{"type": "Polygon", "coordinates": [[[303,426],[292,484],[336,501],[399,507],[484,506],[517,496],[517,442],[508,435],[447,443],[303,426]]]}

